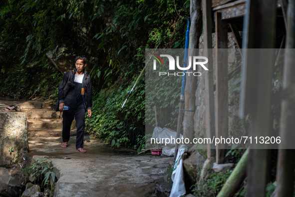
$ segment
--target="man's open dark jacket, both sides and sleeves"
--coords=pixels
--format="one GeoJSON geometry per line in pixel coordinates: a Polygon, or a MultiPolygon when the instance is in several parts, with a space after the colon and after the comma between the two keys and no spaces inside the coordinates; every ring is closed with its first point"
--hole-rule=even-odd
{"type": "MultiPolygon", "coordinates": [[[[64,98],[68,91],[71,88],[74,88],[74,78],[75,78],[76,68],[66,72],[59,84],[58,87],[58,100],[60,102],[64,102],[64,98]]],[[[84,70],[84,77],[82,80],[82,87],[84,87],[84,101],[87,109],[91,109],[92,106],[92,84],[91,77],[84,70]]]]}

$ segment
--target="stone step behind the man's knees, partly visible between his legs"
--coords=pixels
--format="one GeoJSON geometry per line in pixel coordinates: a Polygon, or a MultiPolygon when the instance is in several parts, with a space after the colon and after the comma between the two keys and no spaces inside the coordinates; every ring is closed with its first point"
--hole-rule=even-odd
{"type": "MultiPolygon", "coordinates": [[[[73,120],[71,128],[75,128],[76,121],[73,120]]],[[[36,129],[62,129],[62,118],[60,119],[27,119],[27,130],[36,130],[36,129]]]]}

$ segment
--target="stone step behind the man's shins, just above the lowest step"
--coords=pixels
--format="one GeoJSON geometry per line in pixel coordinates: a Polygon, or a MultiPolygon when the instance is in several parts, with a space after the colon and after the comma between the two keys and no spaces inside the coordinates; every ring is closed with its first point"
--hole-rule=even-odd
{"type": "MultiPolygon", "coordinates": [[[[36,129],[27,131],[27,137],[61,137],[61,129],[36,129]]],[[[71,129],[70,136],[76,135],[76,129],[71,129]]]]}

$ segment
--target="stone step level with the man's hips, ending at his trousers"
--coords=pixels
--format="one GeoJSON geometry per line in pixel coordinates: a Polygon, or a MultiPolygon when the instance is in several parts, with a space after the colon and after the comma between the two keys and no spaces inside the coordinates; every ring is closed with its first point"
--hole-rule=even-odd
{"type": "MultiPolygon", "coordinates": [[[[58,118],[60,111],[55,111],[52,109],[21,109],[21,111],[26,113],[27,119],[33,118],[58,118]]],[[[62,115],[62,114],[61,114],[62,115]]]]}

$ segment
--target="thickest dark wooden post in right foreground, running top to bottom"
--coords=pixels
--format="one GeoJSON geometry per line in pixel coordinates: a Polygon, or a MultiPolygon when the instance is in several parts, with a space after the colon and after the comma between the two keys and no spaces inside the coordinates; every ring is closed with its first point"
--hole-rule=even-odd
{"type": "MultiPolygon", "coordinates": [[[[274,48],[276,0],[249,0],[244,16],[243,48],[274,48]],[[258,19],[259,18],[259,19],[258,19]]],[[[251,114],[252,136],[269,136],[271,126],[271,89],[275,55],[265,49],[245,50],[242,67],[240,116],[251,114]]],[[[265,196],[267,183],[267,144],[252,143],[248,162],[247,196],[265,196]]]]}

